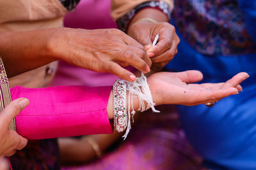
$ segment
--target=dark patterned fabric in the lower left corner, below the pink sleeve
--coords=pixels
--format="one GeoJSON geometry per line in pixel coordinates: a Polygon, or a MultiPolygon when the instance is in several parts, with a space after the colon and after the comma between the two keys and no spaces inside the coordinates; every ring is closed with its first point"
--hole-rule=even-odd
{"type": "Polygon", "coordinates": [[[58,170],[60,155],[57,140],[31,140],[24,149],[10,157],[10,162],[15,170],[58,170]]]}

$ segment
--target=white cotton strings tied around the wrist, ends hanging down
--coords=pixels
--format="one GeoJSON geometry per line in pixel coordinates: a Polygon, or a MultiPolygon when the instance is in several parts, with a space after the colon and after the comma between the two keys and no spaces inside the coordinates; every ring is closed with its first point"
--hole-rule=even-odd
{"type": "Polygon", "coordinates": [[[126,132],[124,136],[124,140],[127,138],[127,135],[129,134],[129,131],[131,129],[131,114],[132,114],[132,122],[133,122],[133,116],[136,113],[133,108],[133,95],[135,97],[138,97],[139,99],[139,108],[138,111],[145,111],[149,108],[152,109],[153,112],[159,113],[160,111],[156,110],[154,107],[155,103],[153,102],[152,95],[150,92],[150,89],[148,87],[147,78],[146,76],[141,73],[141,77],[137,78],[134,82],[127,81],[127,87],[126,90],[129,91],[128,95],[128,125],[126,132]],[[131,99],[130,99],[131,98],[131,99]],[[147,106],[145,106],[145,103],[147,103],[147,106]],[[130,106],[132,106],[132,112],[130,112],[130,106]]]}

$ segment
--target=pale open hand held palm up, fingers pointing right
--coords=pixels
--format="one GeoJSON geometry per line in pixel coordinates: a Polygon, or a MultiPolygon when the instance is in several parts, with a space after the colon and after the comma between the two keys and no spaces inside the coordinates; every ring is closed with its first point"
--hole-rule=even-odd
{"type": "Polygon", "coordinates": [[[203,75],[200,71],[161,72],[148,77],[148,85],[152,92],[153,101],[157,105],[194,106],[220,101],[223,97],[238,94],[242,90],[239,84],[248,78],[248,74],[238,73],[225,83],[194,84],[202,78],[203,75]]]}

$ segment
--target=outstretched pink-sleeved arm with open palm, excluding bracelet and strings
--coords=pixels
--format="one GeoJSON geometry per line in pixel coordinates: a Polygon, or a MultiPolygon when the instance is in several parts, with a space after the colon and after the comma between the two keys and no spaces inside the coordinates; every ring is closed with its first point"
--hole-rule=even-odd
{"type": "MultiPolygon", "coordinates": [[[[148,78],[148,85],[156,105],[193,106],[237,94],[241,90],[239,83],[246,78],[248,74],[239,73],[227,83],[200,85],[189,84],[202,80],[199,71],[163,72],[152,74],[148,78]]],[[[113,118],[111,87],[13,88],[12,97],[20,96],[28,98],[30,104],[16,117],[17,132],[28,139],[112,132],[109,124],[109,119],[113,118]]],[[[137,97],[133,99],[133,107],[134,110],[139,108],[137,97]]]]}

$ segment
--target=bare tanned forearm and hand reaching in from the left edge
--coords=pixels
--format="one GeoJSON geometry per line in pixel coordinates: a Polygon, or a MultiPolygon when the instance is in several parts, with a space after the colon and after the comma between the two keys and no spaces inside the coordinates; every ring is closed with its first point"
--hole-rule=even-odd
{"type": "Polygon", "coordinates": [[[1,32],[0,39],[0,56],[8,77],[65,60],[84,69],[134,81],[135,75],[122,66],[133,66],[143,73],[148,73],[151,66],[144,46],[118,29],[1,32]],[[13,66],[12,61],[19,64],[13,66]]]}

